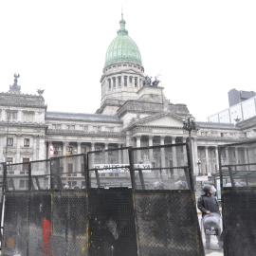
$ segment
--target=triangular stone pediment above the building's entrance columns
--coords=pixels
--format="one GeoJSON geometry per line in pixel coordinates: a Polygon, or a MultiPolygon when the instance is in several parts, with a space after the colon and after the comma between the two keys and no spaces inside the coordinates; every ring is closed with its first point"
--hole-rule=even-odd
{"type": "Polygon", "coordinates": [[[137,123],[149,126],[183,127],[182,119],[171,113],[156,114],[145,119],[140,119],[137,123]]]}

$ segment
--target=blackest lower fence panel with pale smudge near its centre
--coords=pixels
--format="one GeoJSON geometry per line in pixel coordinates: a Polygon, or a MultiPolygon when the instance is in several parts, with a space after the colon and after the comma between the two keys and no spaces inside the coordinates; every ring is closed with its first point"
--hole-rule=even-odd
{"type": "Polygon", "coordinates": [[[91,189],[89,255],[137,255],[132,190],[91,189]]]}

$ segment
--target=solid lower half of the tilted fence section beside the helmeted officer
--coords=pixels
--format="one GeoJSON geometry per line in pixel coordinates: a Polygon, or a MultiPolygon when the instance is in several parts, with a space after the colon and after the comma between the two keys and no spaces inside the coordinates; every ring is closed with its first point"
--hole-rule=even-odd
{"type": "Polygon", "coordinates": [[[135,192],[135,204],[139,255],[201,255],[190,191],[135,192]]]}

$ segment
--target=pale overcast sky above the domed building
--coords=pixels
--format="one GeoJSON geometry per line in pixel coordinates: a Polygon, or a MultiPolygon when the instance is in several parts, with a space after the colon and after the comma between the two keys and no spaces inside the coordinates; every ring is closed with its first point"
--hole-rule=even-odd
{"type": "Polygon", "coordinates": [[[95,113],[105,53],[121,5],[145,75],[204,121],[229,107],[232,88],[256,91],[255,0],[0,1],[0,91],[45,89],[48,110],[95,113]]]}

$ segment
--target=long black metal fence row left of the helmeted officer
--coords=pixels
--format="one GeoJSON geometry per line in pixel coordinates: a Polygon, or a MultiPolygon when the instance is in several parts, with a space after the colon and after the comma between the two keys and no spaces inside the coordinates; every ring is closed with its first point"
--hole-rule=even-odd
{"type": "Polygon", "coordinates": [[[188,144],[0,166],[3,255],[204,255],[188,144]]]}

